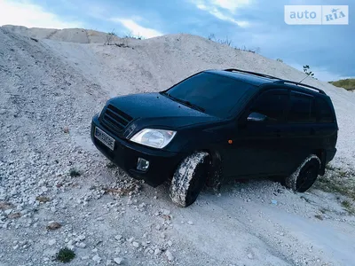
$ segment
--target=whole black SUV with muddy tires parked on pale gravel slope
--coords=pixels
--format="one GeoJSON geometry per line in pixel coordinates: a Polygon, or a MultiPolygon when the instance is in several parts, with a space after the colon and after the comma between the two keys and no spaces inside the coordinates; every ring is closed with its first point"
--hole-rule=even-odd
{"type": "Polygon", "coordinates": [[[146,184],[170,181],[181,207],[230,178],[274,176],[305,192],[333,160],[337,131],[323,90],[239,69],[111,98],[91,122],[101,153],[146,184]]]}

